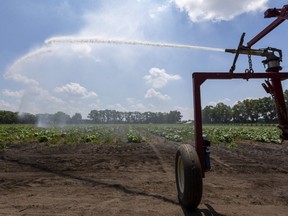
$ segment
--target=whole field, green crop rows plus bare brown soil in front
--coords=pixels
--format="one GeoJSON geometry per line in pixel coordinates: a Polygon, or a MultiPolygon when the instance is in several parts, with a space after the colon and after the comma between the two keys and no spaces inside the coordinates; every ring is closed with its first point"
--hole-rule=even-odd
{"type": "Polygon", "coordinates": [[[204,125],[212,142],[196,212],[178,203],[191,124],[0,125],[0,215],[285,215],[288,145],[275,125],[204,125]]]}

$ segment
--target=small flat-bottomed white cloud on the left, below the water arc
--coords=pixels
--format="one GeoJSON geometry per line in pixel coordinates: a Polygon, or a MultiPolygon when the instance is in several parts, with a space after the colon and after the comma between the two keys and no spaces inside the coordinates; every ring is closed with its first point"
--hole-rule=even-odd
{"type": "Polygon", "coordinates": [[[68,83],[62,87],[56,87],[54,89],[57,93],[64,93],[68,96],[76,96],[80,98],[90,98],[97,97],[97,94],[93,91],[88,91],[85,87],[81,86],[79,83],[68,83]]]}

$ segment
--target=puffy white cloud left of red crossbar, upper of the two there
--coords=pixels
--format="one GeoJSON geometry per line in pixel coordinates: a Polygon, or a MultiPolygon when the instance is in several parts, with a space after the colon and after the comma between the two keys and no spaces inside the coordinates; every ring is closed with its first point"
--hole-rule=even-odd
{"type": "Polygon", "coordinates": [[[149,70],[150,75],[144,76],[144,80],[147,83],[152,84],[153,88],[162,88],[171,80],[180,80],[179,75],[172,75],[166,73],[165,69],[151,68],[149,70]]]}

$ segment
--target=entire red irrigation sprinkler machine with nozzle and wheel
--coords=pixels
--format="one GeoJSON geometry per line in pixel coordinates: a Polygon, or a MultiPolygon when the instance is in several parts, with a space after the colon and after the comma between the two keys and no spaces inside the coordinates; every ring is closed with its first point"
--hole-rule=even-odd
{"type": "Polygon", "coordinates": [[[251,47],[261,40],[265,35],[288,19],[288,5],[283,8],[268,9],[264,18],[277,17],[270,25],[252,38],[246,46],[243,45],[245,33],[242,34],[237,49],[226,49],[225,52],[235,54],[233,64],[229,72],[194,72],[193,96],[194,96],[194,126],[195,126],[195,149],[190,144],[183,144],[177,150],[175,162],[176,185],[178,199],[181,205],[188,209],[195,209],[201,202],[205,171],[209,170],[208,154],[205,148],[209,145],[203,138],[202,113],[201,113],[201,85],[209,79],[265,79],[262,84],[264,90],[271,94],[278,117],[279,128],[282,130],[281,138],[288,140],[288,118],[283,95],[281,81],[288,79],[288,72],[281,72],[282,51],[280,49],[267,47],[264,49],[252,49],[251,47]],[[234,73],[239,54],[248,55],[249,68],[242,73],[234,73]],[[266,72],[254,72],[251,56],[262,56],[266,72]]]}

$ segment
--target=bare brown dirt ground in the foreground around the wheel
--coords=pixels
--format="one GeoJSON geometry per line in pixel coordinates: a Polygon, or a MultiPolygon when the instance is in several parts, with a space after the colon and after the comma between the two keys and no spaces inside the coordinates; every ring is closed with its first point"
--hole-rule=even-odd
{"type": "Polygon", "coordinates": [[[195,212],[177,200],[179,145],[10,146],[0,152],[0,215],[287,215],[287,144],[212,146],[195,212]]]}

